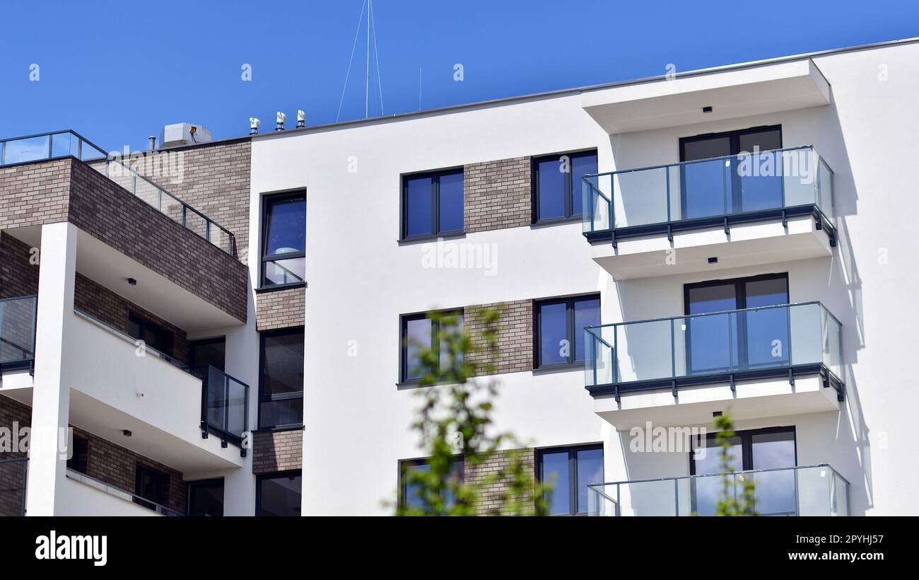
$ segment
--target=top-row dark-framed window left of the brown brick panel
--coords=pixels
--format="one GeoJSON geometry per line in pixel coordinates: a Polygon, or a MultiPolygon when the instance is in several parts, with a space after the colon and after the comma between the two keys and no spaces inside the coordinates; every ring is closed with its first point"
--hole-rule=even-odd
{"type": "Polygon", "coordinates": [[[403,176],[403,240],[462,233],[462,179],[462,169],[403,176]]]}

